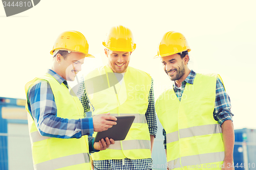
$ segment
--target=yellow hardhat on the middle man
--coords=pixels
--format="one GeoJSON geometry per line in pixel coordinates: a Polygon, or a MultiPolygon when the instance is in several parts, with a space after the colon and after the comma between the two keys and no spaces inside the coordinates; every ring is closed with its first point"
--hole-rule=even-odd
{"type": "Polygon", "coordinates": [[[116,26],[110,29],[102,44],[111,51],[133,52],[136,48],[133,41],[133,33],[129,28],[116,26]]]}

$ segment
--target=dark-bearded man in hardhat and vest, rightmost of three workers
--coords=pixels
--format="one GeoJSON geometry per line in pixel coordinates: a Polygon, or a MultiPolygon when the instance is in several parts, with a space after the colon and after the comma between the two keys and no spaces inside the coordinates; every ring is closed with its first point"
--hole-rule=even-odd
{"type": "Polygon", "coordinates": [[[157,99],[169,169],[232,169],[234,130],[230,99],[217,74],[188,68],[190,47],[178,32],[158,46],[164,71],[174,81],[157,99]],[[224,162],[224,164],[223,164],[224,162]]]}

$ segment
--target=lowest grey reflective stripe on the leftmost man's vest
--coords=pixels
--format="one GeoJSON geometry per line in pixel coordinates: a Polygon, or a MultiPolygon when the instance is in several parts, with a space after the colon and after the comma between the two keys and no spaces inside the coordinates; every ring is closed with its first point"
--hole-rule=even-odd
{"type": "Polygon", "coordinates": [[[75,155],[69,155],[49,161],[41,162],[34,165],[36,170],[53,170],[66,166],[77,165],[81,163],[90,163],[90,156],[88,153],[80,153],[75,155]]]}

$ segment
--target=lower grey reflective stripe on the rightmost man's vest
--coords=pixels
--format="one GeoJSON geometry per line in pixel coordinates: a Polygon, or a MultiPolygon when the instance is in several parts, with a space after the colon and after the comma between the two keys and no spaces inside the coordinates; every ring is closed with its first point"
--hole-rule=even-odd
{"type": "Polygon", "coordinates": [[[180,158],[168,161],[169,169],[174,169],[182,166],[199,165],[204,163],[219,162],[224,160],[224,152],[207,153],[200,155],[184,156],[180,158]],[[181,162],[181,164],[180,164],[181,162]]]}

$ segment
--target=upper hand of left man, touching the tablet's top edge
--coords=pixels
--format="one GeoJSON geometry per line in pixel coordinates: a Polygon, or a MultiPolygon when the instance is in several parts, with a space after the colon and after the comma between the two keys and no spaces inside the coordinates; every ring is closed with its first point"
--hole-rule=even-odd
{"type": "Polygon", "coordinates": [[[94,132],[101,132],[112,128],[116,125],[117,118],[110,116],[110,113],[98,114],[93,116],[93,130],[94,132]],[[113,120],[113,121],[112,121],[113,120]]]}

